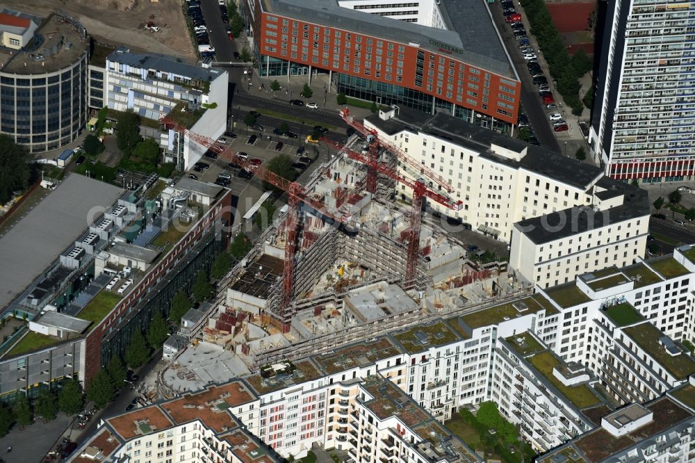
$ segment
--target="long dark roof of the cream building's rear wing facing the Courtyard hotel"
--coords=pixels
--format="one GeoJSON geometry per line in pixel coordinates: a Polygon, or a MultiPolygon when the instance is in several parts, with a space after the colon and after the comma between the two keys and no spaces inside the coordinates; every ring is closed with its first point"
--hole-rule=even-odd
{"type": "Polygon", "coordinates": [[[432,116],[398,106],[398,115],[389,120],[382,120],[378,114],[370,115],[366,120],[389,135],[394,135],[407,128],[413,131],[419,130],[461,147],[480,152],[481,156],[491,161],[509,165],[512,168],[521,167],[532,170],[576,188],[589,188],[591,183],[603,174],[603,171],[594,165],[581,163],[547,149],[528,145],[516,138],[485,129],[446,113],[437,113],[432,116]],[[517,153],[525,150],[526,154],[521,158],[521,161],[514,161],[514,159],[508,159],[491,152],[491,145],[497,145],[517,153]]]}

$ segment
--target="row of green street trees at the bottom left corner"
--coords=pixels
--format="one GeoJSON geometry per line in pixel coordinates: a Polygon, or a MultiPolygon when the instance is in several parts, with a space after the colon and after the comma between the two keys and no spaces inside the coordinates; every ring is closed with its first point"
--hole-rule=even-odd
{"type": "Polygon", "coordinates": [[[30,425],[34,414],[44,421],[52,421],[56,419],[58,412],[67,415],[80,412],[83,403],[84,394],[79,381],[76,380],[64,382],[57,393],[50,389],[42,389],[33,403],[30,403],[23,393],[17,393],[12,407],[0,403],[0,437],[7,434],[15,423],[22,429],[30,425]]]}

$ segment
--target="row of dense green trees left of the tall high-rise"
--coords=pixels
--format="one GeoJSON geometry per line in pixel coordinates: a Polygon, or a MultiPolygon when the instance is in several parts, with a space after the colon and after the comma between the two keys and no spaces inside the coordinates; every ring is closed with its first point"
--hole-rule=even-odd
{"type": "MultiPolygon", "coordinates": [[[[584,109],[584,103],[579,95],[579,78],[591,70],[593,63],[582,49],[579,49],[574,56],[569,56],[544,0],[524,1],[523,8],[531,24],[531,33],[538,41],[539,48],[546,58],[550,75],[557,83],[557,91],[560,92],[565,103],[571,106],[572,113],[580,115],[584,109]]],[[[589,90],[589,93],[593,95],[593,90],[589,90]]],[[[591,104],[592,99],[593,96],[584,100],[591,104]]]]}

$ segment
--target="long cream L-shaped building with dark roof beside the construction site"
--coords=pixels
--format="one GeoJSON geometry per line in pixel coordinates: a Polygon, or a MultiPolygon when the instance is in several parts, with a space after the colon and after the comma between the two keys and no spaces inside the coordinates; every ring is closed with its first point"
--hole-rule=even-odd
{"type": "MultiPolygon", "coordinates": [[[[431,202],[433,211],[510,243],[509,265],[520,279],[553,286],[644,257],[647,194],[604,177],[600,168],[443,113],[394,107],[366,118],[365,126],[440,175],[454,188],[452,199],[464,203],[450,211],[431,202]]],[[[419,174],[409,165],[399,169],[419,174]]],[[[411,197],[405,186],[397,188],[411,197]]]]}

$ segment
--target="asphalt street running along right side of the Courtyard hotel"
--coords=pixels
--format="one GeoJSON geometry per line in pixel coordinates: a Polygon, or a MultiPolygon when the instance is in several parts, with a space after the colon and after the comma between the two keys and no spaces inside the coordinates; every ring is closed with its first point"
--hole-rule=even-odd
{"type": "MultiPolygon", "coordinates": [[[[509,51],[509,56],[512,58],[512,64],[516,69],[519,79],[521,79],[521,106],[523,106],[523,111],[528,115],[531,127],[541,145],[546,149],[550,149],[550,151],[559,153],[560,146],[559,143],[557,143],[553,129],[550,129],[546,109],[541,104],[541,98],[538,95],[538,88],[534,85],[533,79],[531,79],[528,73],[528,67],[526,67],[526,62],[523,56],[521,56],[521,51],[519,51],[518,48],[518,40],[514,38],[512,28],[505,23],[505,17],[502,15],[502,5],[495,2],[489,5],[489,7],[492,12],[493,20],[500,30],[502,41],[505,42],[505,47],[507,51],[509,51]]],[[[543,69],[543,74],[546,74],[546,79],[550,81],[550,72],[548,72],[547,69],[543,69]]]]}

